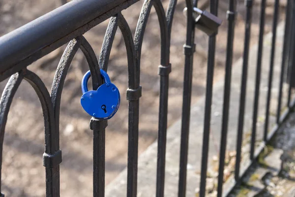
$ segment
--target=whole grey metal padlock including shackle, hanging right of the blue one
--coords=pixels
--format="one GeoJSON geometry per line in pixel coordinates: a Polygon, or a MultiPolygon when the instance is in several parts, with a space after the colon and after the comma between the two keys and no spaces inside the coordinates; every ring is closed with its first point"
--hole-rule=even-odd
{"type": "MultiPolygon", "coordinates": [[[[184,8],[183,13],[187,15],[187,8],[184,8]]],[[[216,34],[219,26],[222,24],[222,20],[220,18],[206,10],[202,11],[197,7],[193,8],[193,17],[195,19],[196,28],[209,36],[216,34]]]]}

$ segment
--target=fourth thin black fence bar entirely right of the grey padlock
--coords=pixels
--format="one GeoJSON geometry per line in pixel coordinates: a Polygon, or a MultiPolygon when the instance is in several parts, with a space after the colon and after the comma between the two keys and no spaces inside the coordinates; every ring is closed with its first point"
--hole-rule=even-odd
{"type": "Polygon", "coordinates": [[[264,141],[265,142],[267,141],[267,132],[268,132],[269,107],[270,107],[270,98],[271,98],[271,87],[272,87],[272,75],[273,75],[273,65],[274,65],[276,29],[277,29],[277,23],[278,23],[278,12],[279,12],[279,0],[275,0],[273,24],[272,24],[270,66],[269,66],[269,75],[268,75],[268,90],[267,90],[267,100],[266,100],[266,122],[265,122],[265,128],[264,128],[264,141]]]}

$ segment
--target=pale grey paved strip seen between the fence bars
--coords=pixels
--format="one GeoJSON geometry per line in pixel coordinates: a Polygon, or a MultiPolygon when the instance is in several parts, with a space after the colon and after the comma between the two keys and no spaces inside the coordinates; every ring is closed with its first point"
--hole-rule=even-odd
{"type": "MultiPolygon", "coordinates": [[[[276,112],[280,62],[282,54],[284,25],[281,23],[277,29],[277,42],[275,53],[275,66],[273,74],[272,102],[271,113],[276,112]]],[[[271,33],[265,35],[264,55],[261,76],[261,91],[258,114],[258,137],[257,143],[262,139],[262,127],[265,119],[265,105],[267,93],[267,80],[270,60],[271,33]]],[[[243,43],[240,43],[243,44],[243,43]]],[[[196,62],[196,61],[195,61],[196,62]]],[[[257,62],[257,46],[250,50],[249,66],[248,66],[248,82],[246,93],[246,110],[245,110],[245,136],[249,136],[251,131],[251,119],[253,110],[255,74],[257,62]]],[[[232,87],[231,87],[231,106],[230,121],[228,128],[228,144],[227,150],[236,149],[236,133],[237,133],[237,117],[239,106],[239,92],[241,80],[242,59],[238,60],[233,66],[232,87]]],[[[217,155],[220,143],[221,131],[221,114],[223,105],[223,88],[224,79],[214,84],[213,103],[212,103],[212,119],[210,129],[209,143],[209,162],[214,155],[217,155]]],[[[191,108],[191,124],[189,136],[189,153],[187,165],[187,197],[195,195],[196,188],[199,187],[200,169],[201,169],[201,151],[203,141],[203,122],[204,122],[204,105],[205,98],[200,99],[191,108]]],[[[270,118],[270,126],[274,123],[274,117],[270,118]]],[[[178,185],[178,168],[179,168],[179,147],[180,147],[180,126],[181,121],[177,121],[167,131],[167,153],[166,153],[166,174],[165,174],[165,196],[177,197],[178,185]]],[[[206,131],[208,132],[208,131],[206,131]]],[[[247,140],[247,139],[246,139],[247,140]]],[[[155,180],[156,180],[156,162],[157,162],[157,143],[154,142],[148,149],[140,155],[138,164],[138,197],[155,196],[155,180]]],[[[106,188],[107,197],[118,197],[126,195],[126,169],[106,188]]]]}

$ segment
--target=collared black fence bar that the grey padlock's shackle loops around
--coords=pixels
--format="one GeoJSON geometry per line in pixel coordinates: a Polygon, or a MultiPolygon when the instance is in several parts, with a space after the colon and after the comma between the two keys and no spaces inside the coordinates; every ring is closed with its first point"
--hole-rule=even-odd
{"type": "Polygon", "coordinates": [[[192,74],[193,74],[193,59],[195,52],[195,23],[193,20],[193,6],[196,6],[198,0],[186,0],[187,6],[187,29],[186,43],[183,46],[185,55],[184,62],[184,79],[183,79],[183,100],[182,100],[182,115],[181,115],[181,139],[180,139],[180,158],[179,158],[179,180],[178,180],[178,197],[185,197],[186,191],[186,166],[188,155],[188,137],[190,124],[190,104],[191,104],[191,89],[192,89],[192,74]]]}

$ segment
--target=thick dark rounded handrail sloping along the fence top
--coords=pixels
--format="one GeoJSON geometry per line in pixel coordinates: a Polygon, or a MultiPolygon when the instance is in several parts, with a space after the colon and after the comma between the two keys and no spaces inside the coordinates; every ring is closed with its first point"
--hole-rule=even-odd
{"type": "Polygon", "coordinates": [[[72,0],[1,36],[0,81],[136,1],[139,0],[72,0]],[[28,58],[29,61],[16,66],[28,58]]]}

